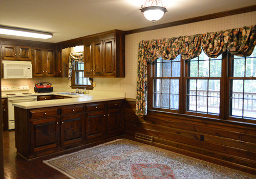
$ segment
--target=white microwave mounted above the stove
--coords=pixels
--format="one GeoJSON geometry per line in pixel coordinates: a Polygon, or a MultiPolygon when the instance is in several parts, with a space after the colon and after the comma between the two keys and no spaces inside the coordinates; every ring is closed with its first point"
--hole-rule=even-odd
{"type": "Polygon", "coordinates": [[[3,60],[4,79],[32,79],[32,63],[3,60]]]}

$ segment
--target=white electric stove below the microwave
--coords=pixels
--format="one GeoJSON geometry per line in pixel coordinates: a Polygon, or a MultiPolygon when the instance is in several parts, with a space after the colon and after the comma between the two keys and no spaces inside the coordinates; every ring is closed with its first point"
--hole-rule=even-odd
{"type": "Polygon", "coordinates": [[[8,98],[8,130],[14,129],[13,103],[36,101],[36,94],[29,92],[29,85],[2,85],[2,94],[8,98]]]}

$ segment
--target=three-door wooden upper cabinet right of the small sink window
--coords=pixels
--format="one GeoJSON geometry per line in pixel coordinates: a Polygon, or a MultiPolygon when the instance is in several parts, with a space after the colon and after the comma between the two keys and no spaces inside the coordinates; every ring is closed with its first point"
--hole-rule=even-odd
{"type": "Polygon", "coordinates": [[[84,77],[125,77],[124,34],[114,31],[84,40],[84,77]]]}

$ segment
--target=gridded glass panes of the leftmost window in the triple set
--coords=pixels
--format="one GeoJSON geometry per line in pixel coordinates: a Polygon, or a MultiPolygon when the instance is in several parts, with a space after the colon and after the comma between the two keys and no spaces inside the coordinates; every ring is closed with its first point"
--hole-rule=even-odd
{"type": "Polygon", "coordinates": [[[160,57],[153,66],[153,108],[179,110],[180,55],[174,60],[160,57]]]}

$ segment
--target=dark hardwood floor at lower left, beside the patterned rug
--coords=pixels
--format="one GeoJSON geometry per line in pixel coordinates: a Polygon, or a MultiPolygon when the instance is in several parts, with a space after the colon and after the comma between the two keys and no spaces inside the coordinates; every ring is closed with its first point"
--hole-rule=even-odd
{"type": "Polygon", "coordinates": [[[5,179],[68,179],[66,175],[58,172],[57,170],[42,163],[43,160],[48,160],[65,153],[70,153],[75,150],[63,151],[55,155],[37,158],[27,161],[16,154],[15,148],[15,132],[4,131],[3,143],[4,143],[4,172],[5,179]]]}

